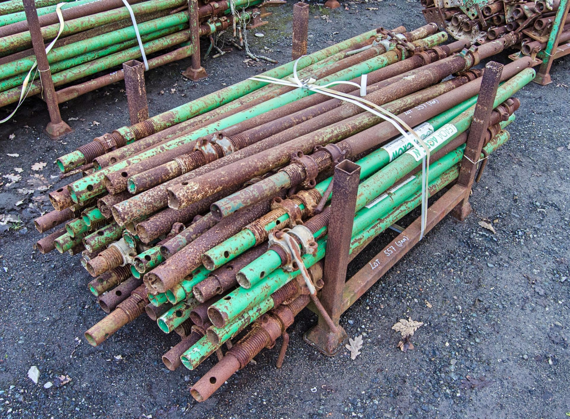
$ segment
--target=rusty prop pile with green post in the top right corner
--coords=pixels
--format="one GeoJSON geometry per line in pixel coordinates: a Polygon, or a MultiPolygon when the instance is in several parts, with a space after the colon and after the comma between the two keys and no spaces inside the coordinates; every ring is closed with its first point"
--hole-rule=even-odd
{"type": "Polygon", "coordinates": [[[570,53],[568,0],[518,2],[467,0],[446,7],[443,0],[422,0],[426,22],[437,23],[457,39],[483,44],[506,34],[520,34],[511,59],[531,56],[543,64],[535,82],[548,84],[552,61],[570,53]]]}

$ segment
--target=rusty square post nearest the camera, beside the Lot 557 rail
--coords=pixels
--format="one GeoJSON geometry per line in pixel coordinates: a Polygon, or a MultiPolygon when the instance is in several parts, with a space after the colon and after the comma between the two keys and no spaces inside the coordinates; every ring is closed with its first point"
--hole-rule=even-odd
{"type": "Polygon", "coordinates": [[[350,160],[336,165],[332,181],[331,218],[328,223],[327,254],[324,260],[324,287],[320,302],[331,317],[336,330],[331,330],[319,316],[317,325],[303,336],[304,340],[325,355],[339,350],[347,333],[339,326],[342,314],[344,283],[355,218],[356,195],[360,179],[360,166],[350,160]]]}

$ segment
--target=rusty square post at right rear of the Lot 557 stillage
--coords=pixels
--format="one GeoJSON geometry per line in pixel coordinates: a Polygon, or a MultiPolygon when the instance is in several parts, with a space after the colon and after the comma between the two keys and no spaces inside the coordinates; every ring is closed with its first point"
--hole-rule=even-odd
{"type": "Polygon", "coordinates": [[[477,104],[475,104],[473,122],[471,122],[471,127],[469,128],[469,136],[467,137],[465,152],[461,161],[461,170],[457,178],[457,183],[464,186],[466,190],[465,197],[453,210],[453,216],[460,221],[465,220],[467,215],[471,213],[469,194],[477,173],[477,166],[479,165],[479,158],[481,157],[481,150],[483,149],[502,72],[503,64],[495,63],[494,61],[487,63],[483,72],[481,90],[479,90],[479,97],[477,104]]]}

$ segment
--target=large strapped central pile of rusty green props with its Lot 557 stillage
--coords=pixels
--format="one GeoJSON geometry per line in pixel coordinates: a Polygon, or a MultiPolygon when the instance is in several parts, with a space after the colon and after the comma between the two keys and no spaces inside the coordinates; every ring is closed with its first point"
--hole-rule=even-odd
{"type": "Polygon", "coordinates": [[[446,39],[434,24],[365,32],[59,157],[83,177],[50,193],[55,210],[35,223],[55,231],[37,247],[80,254],[93,276],[107,316],[89,343],[146,312],[181,336],[170,370],[217,353],[199,401],[283,336],[280,365],[306,306],[319,313],[306,340],[334,353],[341,313],[420,231],[469,213],[479,163],[508,140],[512,96],[535,76],[529,58],[474,68],[516,37],[477,53],[446,39]],[[392,257],[345,283],[347,263],[416,208],[426,217],[392,257]]]}

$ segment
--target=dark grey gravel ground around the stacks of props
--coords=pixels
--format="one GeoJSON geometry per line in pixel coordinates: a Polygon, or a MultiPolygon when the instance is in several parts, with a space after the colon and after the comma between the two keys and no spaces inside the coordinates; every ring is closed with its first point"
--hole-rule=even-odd
{"type": "MultiPolygon", "coordinates": [[[[379,25],[424,24],[416,1],[347,6],[311,7],[310,51],[379,25]]],[[[290,4],[275,10],[270,23],[258,29],[264,38],[250,36],[254,52],[287,60],[291,9],[290,4]]],[[[181,77],[182,63],[151,71],[146,75],[150,114],[268,68],[249,66],[245,58],[234,51],[207,60],[210,77],[199,83],[181,77]]],[[[506,56],[496,59],[507,62],[506,56]]],[[[475,185],[474,213],[463,223],[445,218],[345,313],[341,325],[348,335],[364,337],[360,356],[351,360],[340,351],[325,357],[310,348],[302,335],[316,319],[304,311],[290,329],[281,369],[275,368],[278,347],[264,350],[202,404],[188,388],[213,364],[169,372],[160,357],[177,336],[165,335],[149,319],[129,324],[100,347],[86,343],[83,332],[103,318],[86,289],[91,278],[78,257],[32,250],[41,237],[32,219],[49,205],[34,199],[41,196],[38,191],[17,192],[65,184],[50,177],[57,174],[56,157],[128,123],[123,85],[62,106],[64,120],[75,128],[63,141],[47,138],[44,104],[28,99],[15,120],[0,127],[2,176],[22,169],[21,181],[9,186],[2,178],[0,188],[0,214],[20,219],[0,233],[0,417],[566,417],[569,67],[570,60],[559,60],[551,85],[531,83],[518,93],[522,107],[509,127],[511,140],[491,156],[475,185]],[[36,162],[48,165],[31,170],[36,162]],[[496,234],[478,225],[482,219],[491,220],[496,234]],[[413,336],[415,349],[404,353],[390,328],[408,316],[425,325],[413,336]],[[39,369],[38,384],[27,378],[32,365],[39,369]],[[71,380],[63,384],[60,376],[71,380]],[[484,377],[484,384],[462,388],[466,376],[484,377]]],[[[350,271],[390,237],[377,238],[350,271]]]]}

